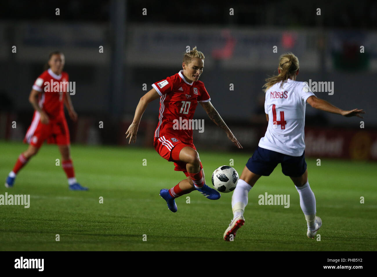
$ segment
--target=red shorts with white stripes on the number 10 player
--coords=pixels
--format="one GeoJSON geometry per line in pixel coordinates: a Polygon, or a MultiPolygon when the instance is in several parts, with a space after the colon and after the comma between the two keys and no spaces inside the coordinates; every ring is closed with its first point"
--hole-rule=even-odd
{"type": "MultiPolygon", "coordinates": [[[[175,171],[183,171],[186,177],[190,176],[186,170],[186,162],[179,161],[179,152],[181,152],[183,147],[189,146],[196,150],[194,144],[188,144],[182,142],[177,138],[165,137],[161,136],[159,138],[155,138],[154,146],[157,153],[164,159],[169,162],[174,162],[175,171]]],[[[202,170],[203,165],[200,162],[200,169],[202,170]]]]}

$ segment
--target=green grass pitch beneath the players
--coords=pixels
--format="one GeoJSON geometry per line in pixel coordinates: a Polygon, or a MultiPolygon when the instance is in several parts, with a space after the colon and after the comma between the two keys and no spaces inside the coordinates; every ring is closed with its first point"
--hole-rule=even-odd
{"type": "MultiPolygon", "coordinates": [[[[3,182],[27,145],[0,141],[3,182]]],[[[241,174],[251,153],[214,153],[198,149],[210,186],[220,165],[241,174]]],[[[75,173],[89,191],[69,191],[56,145],[44,144],[17,176],[15,186],[1,184],[0,194],[30,194],[30,208],[1,205],[2,251],[360,251],[375,250],[376,163],[307,159],[309,183],[323,225],[320,241],[308,239],[299,194],[278,165],[249,193],[245,225],[233,242],[222,235],[232,218],[231,194],[208,200],[193,191],[176,199],[178,212],[158,195],[185,178],[154,149],[72,145],[75,173]],[[147,165],[143,166],[143,159],[147,165]],[[290,194],[290,207],[259,205],[260,194],[290,194]],[[103,197],[103,204],[99,197],[103,197]],[[365,204],[360,204],[360,197],[365,204]],[[55,235],[60,235],[60,241],[55,235]],[[146,235],[146,241],[143,235],[146,235]]],[[[145,237],[145,236],[144,236],[145,237]]]]}

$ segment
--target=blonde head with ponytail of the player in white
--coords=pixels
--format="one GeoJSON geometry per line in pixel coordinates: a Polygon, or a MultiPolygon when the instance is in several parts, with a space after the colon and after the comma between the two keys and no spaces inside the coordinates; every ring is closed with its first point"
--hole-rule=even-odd
{"type": "MultiPolygon", "coordinates": [[[[299,69],[299,59],[292,53],[283,54],[279,59],[280,74],[265,79],[266,83],[262,88],[266,92],[268,88],[281,81],[285,81],[288,77],[294,75],[299,69]]],[[[283,82],[280,87],[283,86],[283,82]]]]}

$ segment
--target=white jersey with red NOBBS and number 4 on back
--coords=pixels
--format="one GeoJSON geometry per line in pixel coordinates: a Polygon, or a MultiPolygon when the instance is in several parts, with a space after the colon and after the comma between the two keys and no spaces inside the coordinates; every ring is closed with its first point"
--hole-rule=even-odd
{"type": "Polygon", "coordinates": [[[314,95],[304,82],[288,79],[266,91],[264,102],[268,114],[266,134],[259,147],[290,156],[301,156],[305,150],[306,100],[314,95]]]}

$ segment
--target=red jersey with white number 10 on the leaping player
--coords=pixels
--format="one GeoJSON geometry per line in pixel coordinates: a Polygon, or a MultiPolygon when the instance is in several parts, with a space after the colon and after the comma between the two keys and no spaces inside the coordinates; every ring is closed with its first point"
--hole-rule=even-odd
{"type": "Polygon", "coordinates": [[[173,125],[177,121],[192,119],[198,102],[211,100],[203,82],[188,83],[181,70],[173,76],[152,84],[152,87],[161,96],[155,138],[176,136],[182,142],[192,143],[192,129],[175,130],[173,125]]]}

